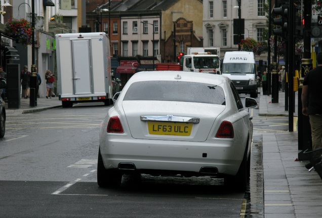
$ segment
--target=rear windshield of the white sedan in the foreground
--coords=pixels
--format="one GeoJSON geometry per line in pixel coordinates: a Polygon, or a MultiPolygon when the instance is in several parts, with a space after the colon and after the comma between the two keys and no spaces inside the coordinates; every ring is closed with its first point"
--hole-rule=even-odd
{"type": "Polygon", "coordinates": [[[185,101],[225,104],[220,86],[182,81],[144,81],[133,83],[124,100],[185,101]]]}

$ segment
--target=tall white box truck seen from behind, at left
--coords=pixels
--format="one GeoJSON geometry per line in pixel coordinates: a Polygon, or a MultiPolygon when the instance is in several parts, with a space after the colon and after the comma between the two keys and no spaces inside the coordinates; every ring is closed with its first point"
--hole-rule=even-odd
{"type": "Polygon", "coordinates": [[[112,99],[109,38],[104,32],[56,34],[57,91],[63,107],[112,99]]]}

